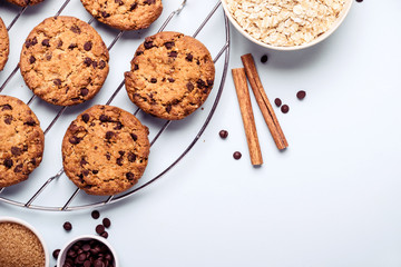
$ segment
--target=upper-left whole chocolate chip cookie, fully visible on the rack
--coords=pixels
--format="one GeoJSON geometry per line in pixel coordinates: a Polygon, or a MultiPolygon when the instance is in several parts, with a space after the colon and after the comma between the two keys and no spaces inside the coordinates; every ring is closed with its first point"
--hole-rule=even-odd
{"type": "Polygon", "coordinates": [[[45,101],[72,106],[102,87],[109,53],[97,31],[74,17],[48,18],[28,36],[20,58],[27,86],[45,101]]]}

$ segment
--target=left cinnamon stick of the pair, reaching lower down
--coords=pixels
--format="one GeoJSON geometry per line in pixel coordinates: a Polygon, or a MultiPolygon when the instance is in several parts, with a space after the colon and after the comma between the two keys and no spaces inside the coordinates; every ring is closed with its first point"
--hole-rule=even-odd
{"type": "Polygon", "coordinates": [[[246,141],[250,149],[252,165],[262,165],[261,146],[257,138],[256,125],[254,115],[252,111],[252,103],[250,97],[250,89],[247,87],[246,75],[244,68],[233,69],[233,79],[235,90],[238,97],[238,103],[241,109],[241,116],[244,122],[244,129],[246,135],[246,141]]]}

